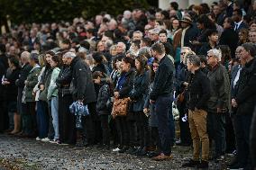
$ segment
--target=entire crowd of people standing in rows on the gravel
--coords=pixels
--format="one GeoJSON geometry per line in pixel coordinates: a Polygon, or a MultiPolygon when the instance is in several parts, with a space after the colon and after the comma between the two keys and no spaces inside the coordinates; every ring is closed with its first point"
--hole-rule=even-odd
{"type": "Polygon", "coordinates": [[[0,40],[1,132],[157,161],[193,147],[182,166],[226,154],[230,168],[256,166],[256,1],[23,23],[0,40]]]}

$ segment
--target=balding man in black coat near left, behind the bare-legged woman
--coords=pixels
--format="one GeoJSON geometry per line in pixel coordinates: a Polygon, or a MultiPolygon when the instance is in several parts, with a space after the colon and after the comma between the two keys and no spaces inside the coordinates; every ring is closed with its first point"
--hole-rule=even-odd
{"type": "MultiPolygon", "coordinates": [[[[28,51],[24,51],[21,54],[21,62],[22,69],[20,71],[19,79],[16,80],[15,85],[18,86],[18,99],[17,99],[17,113],[21,115],[21,119],[23,120],[23,112],[25,109],[25,104],[22,103],[23,99],[23,88],[25,86],[24,82],[27,79],[32,67],[29,64],[30,53],[28,51]]],[[[24,122],[24,121],[22,121],[24,122]]],[[[24,129],[24,124],[22,130],[24,129]]],[[[21,132],[22,133],[22,132],[21,132]]]]}

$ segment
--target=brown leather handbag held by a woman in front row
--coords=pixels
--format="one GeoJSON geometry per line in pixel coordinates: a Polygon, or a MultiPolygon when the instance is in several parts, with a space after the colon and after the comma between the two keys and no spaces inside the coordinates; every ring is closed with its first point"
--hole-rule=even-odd
{"type": "Polygon", "coordinates": [[[114,118],[117,116],[126,116],[130,101],[131,99],[129,97],[123,99],[114,98],[112,116],[114,118]]]}

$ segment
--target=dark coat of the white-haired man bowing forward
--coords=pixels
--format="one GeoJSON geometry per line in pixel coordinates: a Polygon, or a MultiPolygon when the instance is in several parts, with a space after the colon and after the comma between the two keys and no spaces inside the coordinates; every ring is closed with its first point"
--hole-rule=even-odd
{"type": "Polygon", "coordinates": [[[72,94],[74,100],[84,100],[84,103],[95,103],[96,92],[90,67],[81,58],[74,58],[72,68],[72,94]]]}

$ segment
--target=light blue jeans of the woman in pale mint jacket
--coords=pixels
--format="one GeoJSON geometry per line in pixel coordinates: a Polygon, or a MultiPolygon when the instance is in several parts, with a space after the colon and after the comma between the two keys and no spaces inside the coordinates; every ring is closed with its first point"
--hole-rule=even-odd
{"type": "Polygon", "coordinates": [[[59,139],[59,100],[58,97],[52,97],[50,100],[50,110],[52,117],[52,125],[54,129],[54,139],[59,139]]]}

